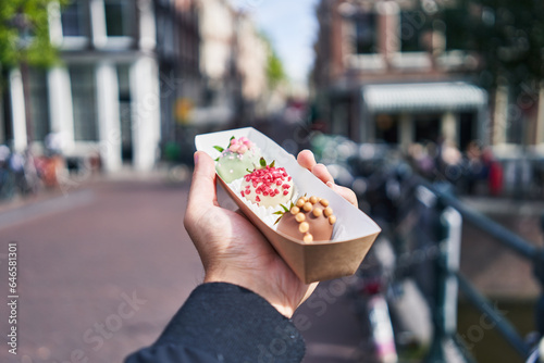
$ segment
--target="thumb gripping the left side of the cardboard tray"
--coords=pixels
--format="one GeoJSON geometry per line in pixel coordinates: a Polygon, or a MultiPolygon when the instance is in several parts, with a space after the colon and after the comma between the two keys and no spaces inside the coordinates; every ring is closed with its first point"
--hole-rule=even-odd
{"type": "Polygon", "coordinates": [[[197,211],[212,205],[218,205],[215,164],[206,152],[197,151],[195,153],[195,171],[193,172],[187,209],[197,211]]]}

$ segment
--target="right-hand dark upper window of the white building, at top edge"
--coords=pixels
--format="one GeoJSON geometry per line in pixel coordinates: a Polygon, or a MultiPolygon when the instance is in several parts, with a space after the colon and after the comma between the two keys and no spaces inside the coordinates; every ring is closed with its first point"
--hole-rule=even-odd
{"type": "Polygon", "coordinates": [[[134,30],[134,2],[104,0],[106,34],[108,37],[132,37],[134,30]]]}

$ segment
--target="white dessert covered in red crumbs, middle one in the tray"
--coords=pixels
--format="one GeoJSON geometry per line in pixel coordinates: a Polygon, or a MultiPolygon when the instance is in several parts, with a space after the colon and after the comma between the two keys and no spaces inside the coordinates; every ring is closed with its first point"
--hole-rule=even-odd
{"type": "Polygon", "coordinates": [[[244,176],[242,197],[260,206],[288,204],[293,198],[293,178],[284,167],[265,166],[244,176]]]}

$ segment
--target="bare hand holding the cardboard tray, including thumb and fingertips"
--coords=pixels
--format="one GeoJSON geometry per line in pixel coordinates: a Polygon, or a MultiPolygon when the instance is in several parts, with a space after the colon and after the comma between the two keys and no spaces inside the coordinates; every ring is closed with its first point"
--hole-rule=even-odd
{"type": "MultiPolygon", "coordinates": [[[[349,189],[330,184],[331,174],[317,164],[313,154],[299,154],[301,166],[357,205],[349,189]],[[312,165],[313,161],[313,165],[312,165]]],[[[290,317],[316,289],[302,283],[267,238],[243,214],[225,210],[218,202],[215,165],[205,152],[195,153],[195,172],[184,225],[200,255],[205,283],[231,283],[245,287],[269,301],[280,313],[290,317]]]]}

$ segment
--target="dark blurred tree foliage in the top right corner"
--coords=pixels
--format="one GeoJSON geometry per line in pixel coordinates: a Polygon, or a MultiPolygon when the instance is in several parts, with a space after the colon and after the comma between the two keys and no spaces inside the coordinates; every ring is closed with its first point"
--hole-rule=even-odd
{"type": "Polygon", "coordinates": [[[481,57],[483,86],[544,78],[544,1],[457,0],[444,21],[448,48],[481,57]]]}

